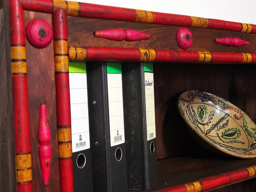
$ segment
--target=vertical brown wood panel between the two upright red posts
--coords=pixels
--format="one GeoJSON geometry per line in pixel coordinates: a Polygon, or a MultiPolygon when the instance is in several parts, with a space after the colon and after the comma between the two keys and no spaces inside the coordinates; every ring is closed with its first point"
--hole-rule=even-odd
{"type": "MultiPolygon", "coordinates": [[[[40,18],[51,24],[51,15],[36,12],[24,12],[25,26],[33,18],[40,18]]],[[[27,77],[28,77],[28,98],[29,98],[29,124],[30,141],[33,169],[33,191],[37,192],[58,192],[59,188],[59,166],[58,146],[56,128],[56,102],[55,102],[55,78],[53,43],[46,48],[38,49],[32,47],[26,40],[27,52],[27,77]],[[43,185],[41,168],[38,158],[38,122],[39,107],[41,103],[47,106],[47,114],[51,133],[50,145],[52,157],[50,164],[49,185],[43,185]]]]}

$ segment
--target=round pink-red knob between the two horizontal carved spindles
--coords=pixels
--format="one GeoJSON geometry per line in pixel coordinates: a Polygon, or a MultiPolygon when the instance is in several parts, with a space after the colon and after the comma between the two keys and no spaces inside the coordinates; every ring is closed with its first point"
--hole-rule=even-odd
{"type": "Polygon", "coordinates": [[[188,49],[193,43],[192,33],[187,28],[180,28],[176,35],[178,46],[182,49],[188,49]]]}

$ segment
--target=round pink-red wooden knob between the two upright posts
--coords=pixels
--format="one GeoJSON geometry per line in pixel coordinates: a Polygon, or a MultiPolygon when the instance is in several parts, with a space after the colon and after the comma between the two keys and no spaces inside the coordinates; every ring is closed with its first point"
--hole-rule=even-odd
{"type": "Polygon", "coordinates": [[[26,26],[28,42],[36,48],[45,48],[52,39],[51,26],[42,19],[33,19],[26,26]]]}

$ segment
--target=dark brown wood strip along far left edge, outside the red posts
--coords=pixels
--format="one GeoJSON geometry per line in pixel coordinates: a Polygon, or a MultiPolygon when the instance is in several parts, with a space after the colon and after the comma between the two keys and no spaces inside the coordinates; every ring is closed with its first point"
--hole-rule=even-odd
{"type": "Polygon", "coordinates": [[[7,0],[0,1],[0,192],[14,192],[15,157],[7,0]]]}

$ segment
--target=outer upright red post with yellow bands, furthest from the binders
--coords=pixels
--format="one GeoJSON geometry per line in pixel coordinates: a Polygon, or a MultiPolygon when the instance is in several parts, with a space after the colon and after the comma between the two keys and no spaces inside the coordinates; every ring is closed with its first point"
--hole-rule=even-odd
{"type": "Polygon", "coordinates": [[[9,7],[17,192],[32,192],[23,6],[10,0],[9,7]]]}

